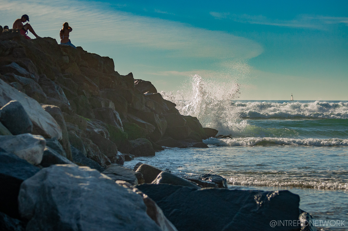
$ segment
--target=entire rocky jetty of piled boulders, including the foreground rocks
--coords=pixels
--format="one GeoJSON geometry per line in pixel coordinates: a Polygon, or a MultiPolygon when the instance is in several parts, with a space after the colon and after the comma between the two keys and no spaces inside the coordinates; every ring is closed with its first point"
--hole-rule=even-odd
{"type": "Polygon", "coordinates": [[[109,57],[3,30],[1,230],[267,230],[269,219],[299,219],[299,197],[287,191],[231,191],[218,175],[123,167],[163,146],[208,147],[202,140],[217,130],[175,106],[109,57]]]}

